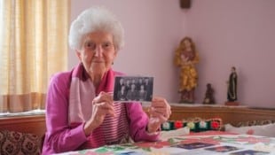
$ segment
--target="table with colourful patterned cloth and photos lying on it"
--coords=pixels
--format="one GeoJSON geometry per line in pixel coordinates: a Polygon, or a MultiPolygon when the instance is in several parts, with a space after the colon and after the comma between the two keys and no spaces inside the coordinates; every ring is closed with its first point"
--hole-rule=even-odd
{"type": "Polygon", "coordinates": [[[97,149],[69,151],[63,155],[265,155],[275,154],[275,137],[204,132],[173,136],[159,142],[109,145],[97,149]]]}

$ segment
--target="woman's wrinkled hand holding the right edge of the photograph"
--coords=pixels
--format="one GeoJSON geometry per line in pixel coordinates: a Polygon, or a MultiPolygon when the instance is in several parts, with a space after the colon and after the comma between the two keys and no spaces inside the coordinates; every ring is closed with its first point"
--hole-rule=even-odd
{"type": "Polygon", "coordinates": [[[161,124],[169,119],[171,108],[166,99],[162,97],[153,97],[151,107],[149,109],[150,119],[147,124],[149,133],[156,132],[161,128],[161,124]]]}

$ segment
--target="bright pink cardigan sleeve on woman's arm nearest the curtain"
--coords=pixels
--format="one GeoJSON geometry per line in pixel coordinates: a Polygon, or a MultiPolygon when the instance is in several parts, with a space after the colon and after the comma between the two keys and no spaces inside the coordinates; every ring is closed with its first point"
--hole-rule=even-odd
{"type": "Polygon", "coordinates": [[[46,100],[46,141],[44,147],[50,152],[73,151],[87,139],[83,123],[71,128],[68,124],[69,76],[52,77],[46,100]]]}

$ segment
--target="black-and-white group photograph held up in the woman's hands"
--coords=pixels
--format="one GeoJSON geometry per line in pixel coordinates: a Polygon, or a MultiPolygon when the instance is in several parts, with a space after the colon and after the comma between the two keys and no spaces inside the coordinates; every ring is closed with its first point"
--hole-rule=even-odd
{"type": "Polygon", "coordinates": [[[153,77],[116,76],[114,81],[114,101],[152,101],[153,77]]]}

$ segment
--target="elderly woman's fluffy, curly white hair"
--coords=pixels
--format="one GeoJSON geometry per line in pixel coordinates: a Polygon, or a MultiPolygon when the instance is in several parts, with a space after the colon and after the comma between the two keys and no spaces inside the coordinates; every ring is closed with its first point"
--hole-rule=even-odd
{"type": "Polygon", "coordinates": [[[112,12],[104,7],[91,7],[83,11],[73,22],[69,32],[69,46],[73,50],[82,48],[83,36],[96,31],[105,31],[113,35],[114,47],[122,49],[124,30],[122,24],[112,12]]]}

